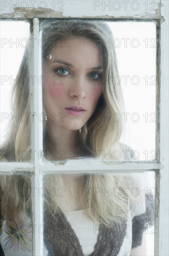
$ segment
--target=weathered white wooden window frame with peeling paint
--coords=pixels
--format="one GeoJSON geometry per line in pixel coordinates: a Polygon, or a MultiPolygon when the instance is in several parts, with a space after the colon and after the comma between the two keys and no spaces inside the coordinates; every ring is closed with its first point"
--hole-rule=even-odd
{"type": "MultiPolygon", "coordinates": [[[[158,20],[160,24],[160,49],[158,67],[159,87],[157,108],[160,114],[160,124],[158,127],[158,136],[156,138],[158,145],[158,159],[155,162],[130,162],[116,163],[110,162],[104,164],[104,161],[71,160],[63,165],[56,165],[47,161],[42,161],[35,155],[31,163],[25,162],[1,162],[1,174],[11,174],[17,171],[30,171],[32,175],[32,186],[42,187],[41,175],[53,172],[62,173],[103,173],[103,172],[144,172],[145,170],[155,170],[157,174],[157,188],[159,191],[156,212],[157,236],[155,236],[155,255],[169,255],[169,1],[93,1],[93,0],[65,0],[65,1],[1,1],[1,18],[12,20],[33,19],[33,32],[31,37],[40,39],[39,18],[90,18],[90,19],[153,19],[158,20]],[[26,2],[19,6],[22,2],[26,2]],[[41,3],[44,2],[44,5],[41,3]],[[46,3],[46,4],[45,4],[46,3]],[[120,7],[121,4],[121,7],[120,7]],[[120,9],[118,10],[118,5],[120,9]],[[138,5],[138,9],[137,9],[138,5]],[[44,9],[43,9],[44,7],[44,9]],[[132,7],[132,8],[131,8],[132,7]],[[137,10],[136,10],[137,9],[137,10]],[[36,17],[36,18],[35,18],[36,17]],[[159,143],[158,143],[159,142],[159,143]],[[48,169],[48,171],[46,171],[48,169]]],[[[38,47],[38,40],[35,41],[35,47],[30,49],[31,55],[31,74],[38,78],[41,75],[41,49],[38,47]],[[39,65],[36,65],[38,60],[39,65]]],[[[38,79],[35,81],[38,85],[38,79]]],[[[42,90],[40,85],[30,88],[31,111],[42,113],[42,90]],[[36,101],[35,101],[36,99],[36,101]],[[34,104],[38,102],[38,104],[34,104]]],[[[42,144],[42,123],[35,117],[32,122],[32,148],[38,152],[43,149],[42,144]],[[41,132],[39,132],[41,131],[41,132]],[[36,136],[34,136],[36,135],[36,136]],[[38,135],[38,136],[37,136],[38,135]],[[35,138],[36,137],[36,138],[35,138]]],[[[43,223],[42,216],[42,197],[35,196],[32,202],[33,220],[39,227],[43,223]],[[39,200],[40,198],[40,200],[39,200]],[[39,211],[40,209],[40,211],[39,211]],[[39,212],[40,217],[39,217],[39,212]]],[[[33,241],[33,255],[43,255],[41,246],[43,236],[36,231],[33,241]],[[40,243],[39,243],[40,241],[40,243]],[[35,246],[36,244],[36,246],[35,246]]]]}

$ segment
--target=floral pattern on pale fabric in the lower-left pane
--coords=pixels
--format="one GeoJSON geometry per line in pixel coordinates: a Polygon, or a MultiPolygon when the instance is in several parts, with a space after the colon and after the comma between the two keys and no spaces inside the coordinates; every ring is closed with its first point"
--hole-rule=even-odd
{"type": "Polygon", "coordinates": [[[12,249],[14,252],[20,249],[23,252],[31,252],[32,225],[29,216],[19,215],[16,218],[6,218],[3,225],[6,237],[3,239],[4,251],[12,249]]]}

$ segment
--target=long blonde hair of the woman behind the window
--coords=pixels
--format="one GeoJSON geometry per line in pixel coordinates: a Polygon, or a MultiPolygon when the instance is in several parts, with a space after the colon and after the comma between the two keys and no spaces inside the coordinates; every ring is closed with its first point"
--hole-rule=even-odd
{"type": "MultiPolygon", "coordinates": [[[[47,57],[50,49],[58,47],[58,45],[69,39],[70,37],[83,37],[88,40],[92,40],[94,47],[99,45],[103,55],[103,74],[102,85],[103,92],[98,101],[94,114],[88,120],[88,122],[81,128],[81,138],[85,150],[89,156],[97,155],[102,157],[103,151],[115,150],[122,153],[122,144],[119,142],[123,132],[124,122],[113,121],[112,117],[115,114],[121,114],[124,111],[123,96],[120,85],[114,83],[114,77],[118,75],[118,67],[116,55],[113,47],[109,47],[106,43],[109,40],[113,41],[113,35],[110,28],[104,22],[99,21],[50,21],[45,22],[43,26],[43,60],[47,57]],[[109,117],[109,118],[107,118],[109,117]]],[[[28,52],[25,52],[25,56],[19,69],[18,79],[13,87],[13,110],[14,113],[22,115],[26,113],[28,118],[26,122],[12,122],[6,142],[2,147],[2,151],[5,152],[5,157],[8,161],[22,161],[19,156],[19,152],[25,150],[29,152],[29,158],[24,161],[29,161],[31,157],[31,125],[30,125],[30,101],[29,101],[29,81],[26,79],[29,77],[29,58],[28,52]],[[25,78],[25,81],[24,81],[25,78]],[[17,151],[17,152],[16,152],[17,151]],[[16,154],[16,157],[12,159],[11,155],[16,154]]],[[[122,117],[122,115],[121,115],[122,117]]],[[[44,122],[44,150],[47,152],[48,159],[51,158],[53,150],[56,150],[57,145],[52,141],[52,138],[48,134],[46,129],[46,122],[44,122]]],[[[113,157],[111,157],[113,160],[113,157]]],[[[117,160],[117,158],[115,158],[117,160]]],[[[120,158],[123,160],[123,156],[120,158]]],[[[24,176],[22,176],[25,179],[24,176]]],[[[12,184],[19,188],[19,175],[13,175],[10,178],[5,178],[2,184],[12,184]],[[6,179],[6,181],[4,180],[6,179]]],[[[127,218],[128,203],[126,195],[124,193],[124,187],[129,184],[129,179],[126,175],[86,175],[83,192],[81,194],[81,202],[87,210],[88,216],[92,219],[99,221],[105,225],[110,223],[119,223],[120,217],[127,218]],[[118,187],[122,193],[120,196],[106,196],[103,197],[101,193],[97,193],[94,196],[95,188],[116,188],[118,187]]],[[[47,189],[46,202],[47,207],[52,213],[56,212],[57,200],[56,197],[52,197],[51,188],[56,184],[63,186],[62,175],[46,175],[44,179],[44,186],[47,189]]],[[[25,179],[24,186],[29,189],[30,181],[25,179]]],[[[18,192],[19,194],[19,192],[18,192]]],[[[21,196],[20,199],[11,202],[11,206],[6,203],[4,206],[4,215],[14,216],[19,214],[20,211],[26,209],[29,213],[30,202],[26,203],[21,196]]],[[[3,201],[9,202],[9,196],[4,193],[3,201]]],[[[4,205],[4,204],[3,204],[4,205]]]]}

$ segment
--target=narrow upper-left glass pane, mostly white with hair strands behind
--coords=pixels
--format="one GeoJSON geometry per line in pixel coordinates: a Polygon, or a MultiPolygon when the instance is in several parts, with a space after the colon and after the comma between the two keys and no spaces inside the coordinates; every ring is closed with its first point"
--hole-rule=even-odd
{"type": "Polygon", "coordinates": [[[29,37],[26,21],[0,21],[1,161],[29,161],[29,37]]]}

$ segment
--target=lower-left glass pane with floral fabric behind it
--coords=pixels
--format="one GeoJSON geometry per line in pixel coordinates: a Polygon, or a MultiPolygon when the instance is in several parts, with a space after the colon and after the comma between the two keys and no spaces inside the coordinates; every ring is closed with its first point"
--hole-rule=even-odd
{"type": "Polygon", "coordinates": [[[32,255],[31,173],[0,175],[0,255],[32,255]]]}

